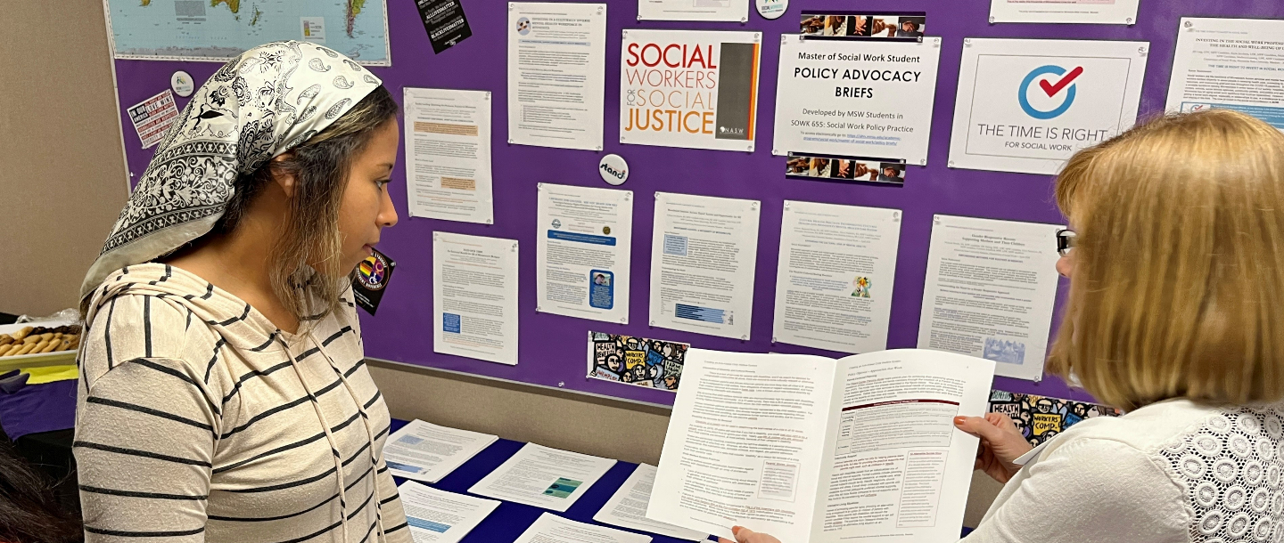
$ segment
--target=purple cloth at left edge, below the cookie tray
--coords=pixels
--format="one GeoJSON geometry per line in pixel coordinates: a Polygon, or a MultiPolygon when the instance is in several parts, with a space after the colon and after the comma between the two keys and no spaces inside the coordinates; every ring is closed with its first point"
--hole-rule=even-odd
{"type": "Polygon", "coordinates": [[[9,439],[76,426],[77,379],[28,384],[14,393],[0,392],[0,428],[9,439]]]}

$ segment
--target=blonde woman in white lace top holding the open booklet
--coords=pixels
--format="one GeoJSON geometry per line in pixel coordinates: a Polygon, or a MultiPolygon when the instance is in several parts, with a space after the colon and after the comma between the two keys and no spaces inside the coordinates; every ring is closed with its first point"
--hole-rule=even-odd
{"type": "Polygon", "coordinates": [[[1127,414],[1034,452],[1007,416],[957,419],[1007,483],[966,540],[1284,539],[1284,134],[1228,110],[1156,119],[1076,154],[1057,202],[1075,233],[1048,368],[1127,414]]]}

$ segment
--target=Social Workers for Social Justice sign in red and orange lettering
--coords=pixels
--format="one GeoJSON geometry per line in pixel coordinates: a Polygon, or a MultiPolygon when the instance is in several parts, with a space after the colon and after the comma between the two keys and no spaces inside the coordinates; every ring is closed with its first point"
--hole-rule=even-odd
{"type": "Polygon", "coordinates": [[[620,142],[752,151],[761,37],[624,31],[620,142]]]}

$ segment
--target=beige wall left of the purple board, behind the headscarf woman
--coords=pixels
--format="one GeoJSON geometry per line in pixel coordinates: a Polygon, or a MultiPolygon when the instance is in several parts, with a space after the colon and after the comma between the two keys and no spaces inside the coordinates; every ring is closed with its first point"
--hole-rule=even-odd
{"type": "Polygon", "coordinates": [[[74,306],[128,193],[103,3],[0,17],[0,311],[74,306]]]}

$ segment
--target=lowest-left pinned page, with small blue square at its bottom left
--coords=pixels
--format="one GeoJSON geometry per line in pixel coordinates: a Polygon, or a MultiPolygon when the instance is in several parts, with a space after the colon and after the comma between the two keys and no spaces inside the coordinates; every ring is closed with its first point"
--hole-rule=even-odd
{"type": "Polygon", "coordinates": [[[433,233],[433,352],[517,364],[517,241],[433,233]]]}

